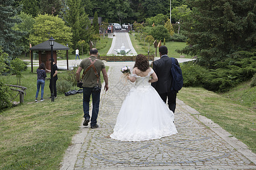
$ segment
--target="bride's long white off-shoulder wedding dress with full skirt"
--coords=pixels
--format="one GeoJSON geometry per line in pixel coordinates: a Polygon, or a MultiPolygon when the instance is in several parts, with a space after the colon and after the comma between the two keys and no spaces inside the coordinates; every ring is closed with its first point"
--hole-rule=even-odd
{"type": "Polygon", "coordinates": [[[111,138],[148,141],[177,133],[174,113],[148,83],[152,73],[154,70],[151,69],[147,76],[131,74],[136,77],[135,86],[123,101],[111,138]]]}

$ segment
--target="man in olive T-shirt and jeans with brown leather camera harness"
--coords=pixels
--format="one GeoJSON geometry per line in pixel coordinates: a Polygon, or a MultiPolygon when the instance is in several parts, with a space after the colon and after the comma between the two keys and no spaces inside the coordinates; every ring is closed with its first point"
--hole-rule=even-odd
{"type": "Polygon", "coordinates": [[[100,106],[101,94],[101,79],[100,73],[102,71],[105,87],[104,90],[108,91],[108,74],[106,73],[104,62],[98,59],[98,50],[96,48],[90,49],[90,57],[82,59],[79,68],[76,71],[77,87],[82,88],[83,100],[82,107],[84,108],[84,126],[88,126],[90,121],[90,128],[98,128],[97,117],[100,106]],[[80,81],[80,73],[84,69],[83,79],[80,81]],[[92,117],[89,114],[90,95],[92,95],[92,117]]]}

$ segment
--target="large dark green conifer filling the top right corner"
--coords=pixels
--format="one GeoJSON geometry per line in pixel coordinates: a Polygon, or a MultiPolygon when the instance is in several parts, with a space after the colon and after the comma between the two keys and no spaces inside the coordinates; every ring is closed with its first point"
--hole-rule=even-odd
{"type": "Polygon", "coordinates": [[[189,1],[194,19],[186,22],[189,47],[181,52],[197,55],[199,61],[213,66],[228,54],[256,45],[254,0],[189,1]]]}

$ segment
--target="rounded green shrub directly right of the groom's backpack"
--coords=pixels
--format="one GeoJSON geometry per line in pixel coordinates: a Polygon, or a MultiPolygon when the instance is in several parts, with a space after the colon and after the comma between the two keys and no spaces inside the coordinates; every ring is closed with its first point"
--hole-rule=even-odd
{"type": "Polygon", "coordinates": [[[185,62],[180,65],[183,74],[183,86],[201,86],[207,70],[193,62],[185,62]]]}

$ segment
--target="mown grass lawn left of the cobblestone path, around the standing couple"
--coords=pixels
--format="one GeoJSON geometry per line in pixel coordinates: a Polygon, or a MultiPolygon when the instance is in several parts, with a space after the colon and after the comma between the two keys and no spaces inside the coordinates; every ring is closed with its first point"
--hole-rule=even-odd
{"type": "MultiPolygon", "coordinates": [[[[61,70],[58,77],[64,74],[67,71],[61,70]]],[[[8,84],[16,84],[15,75],[1,78],[8,84]]],[[[84,115],[82,94],[58,94],[51,102],[49,81],[46,81],[46,100],[34,102],[36,79],[37,75],[28,68],[21,85],[27,87],[24,104],[0,112],[0,169],[59,169],[65,150],[79,130],[84,115]]],[[[104,82],[102,74],[101,79],[104,82]]]]}

